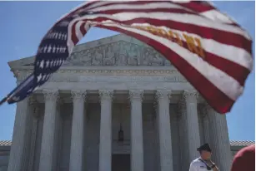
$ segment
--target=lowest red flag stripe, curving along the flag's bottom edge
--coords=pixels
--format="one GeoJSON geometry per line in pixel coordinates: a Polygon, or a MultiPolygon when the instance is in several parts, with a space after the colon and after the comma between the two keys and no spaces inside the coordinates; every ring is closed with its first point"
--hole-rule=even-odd
{"type": "Polygon", "coordinates": [[[161,52],[167,57],[169,61],[172,62],[178,71],[195,87],[196,90],[203,96],[208,104],[213,107],[218,113],[224,114],[230,111],[234,101],[229,99],[227,95],[223,94],[222,91],[208,81],[200,72],[198,72],[193,66],[183,60],[182,57],[178,56],[175,51],[170,50],[168,47],[163,46],[163,44],[154,41],[148,37],[143,37],[140,34],[134,32],[128,32],[118,27],[107,27],[107,26],[97,26],[113,30],[116,32],[123,32],[131,37],[136,37],[138,40],[147,43],[149,46],[153,46],[157,51],[161,52]]]}

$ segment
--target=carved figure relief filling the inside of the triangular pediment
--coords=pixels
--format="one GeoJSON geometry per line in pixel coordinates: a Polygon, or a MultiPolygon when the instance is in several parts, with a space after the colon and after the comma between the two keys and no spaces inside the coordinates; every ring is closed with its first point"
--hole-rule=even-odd
{"type": "Polygon", "coordinates": [[[170,62],[150,46],[118,41],[74,51],[64,66],[170,66],[170,62]]]}

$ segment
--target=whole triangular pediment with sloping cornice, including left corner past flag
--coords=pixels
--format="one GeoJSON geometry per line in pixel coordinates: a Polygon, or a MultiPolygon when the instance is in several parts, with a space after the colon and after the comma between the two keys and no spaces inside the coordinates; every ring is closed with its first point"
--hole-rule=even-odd
{"type": "MultiPolygon", "coordinates": [[[[33,66],[34,56],[8,62],[11,68],[33,66]]],[[[63,66],[170,66],[158,51],[133,37],[118,34],[75,46],[63,66]]]]}

